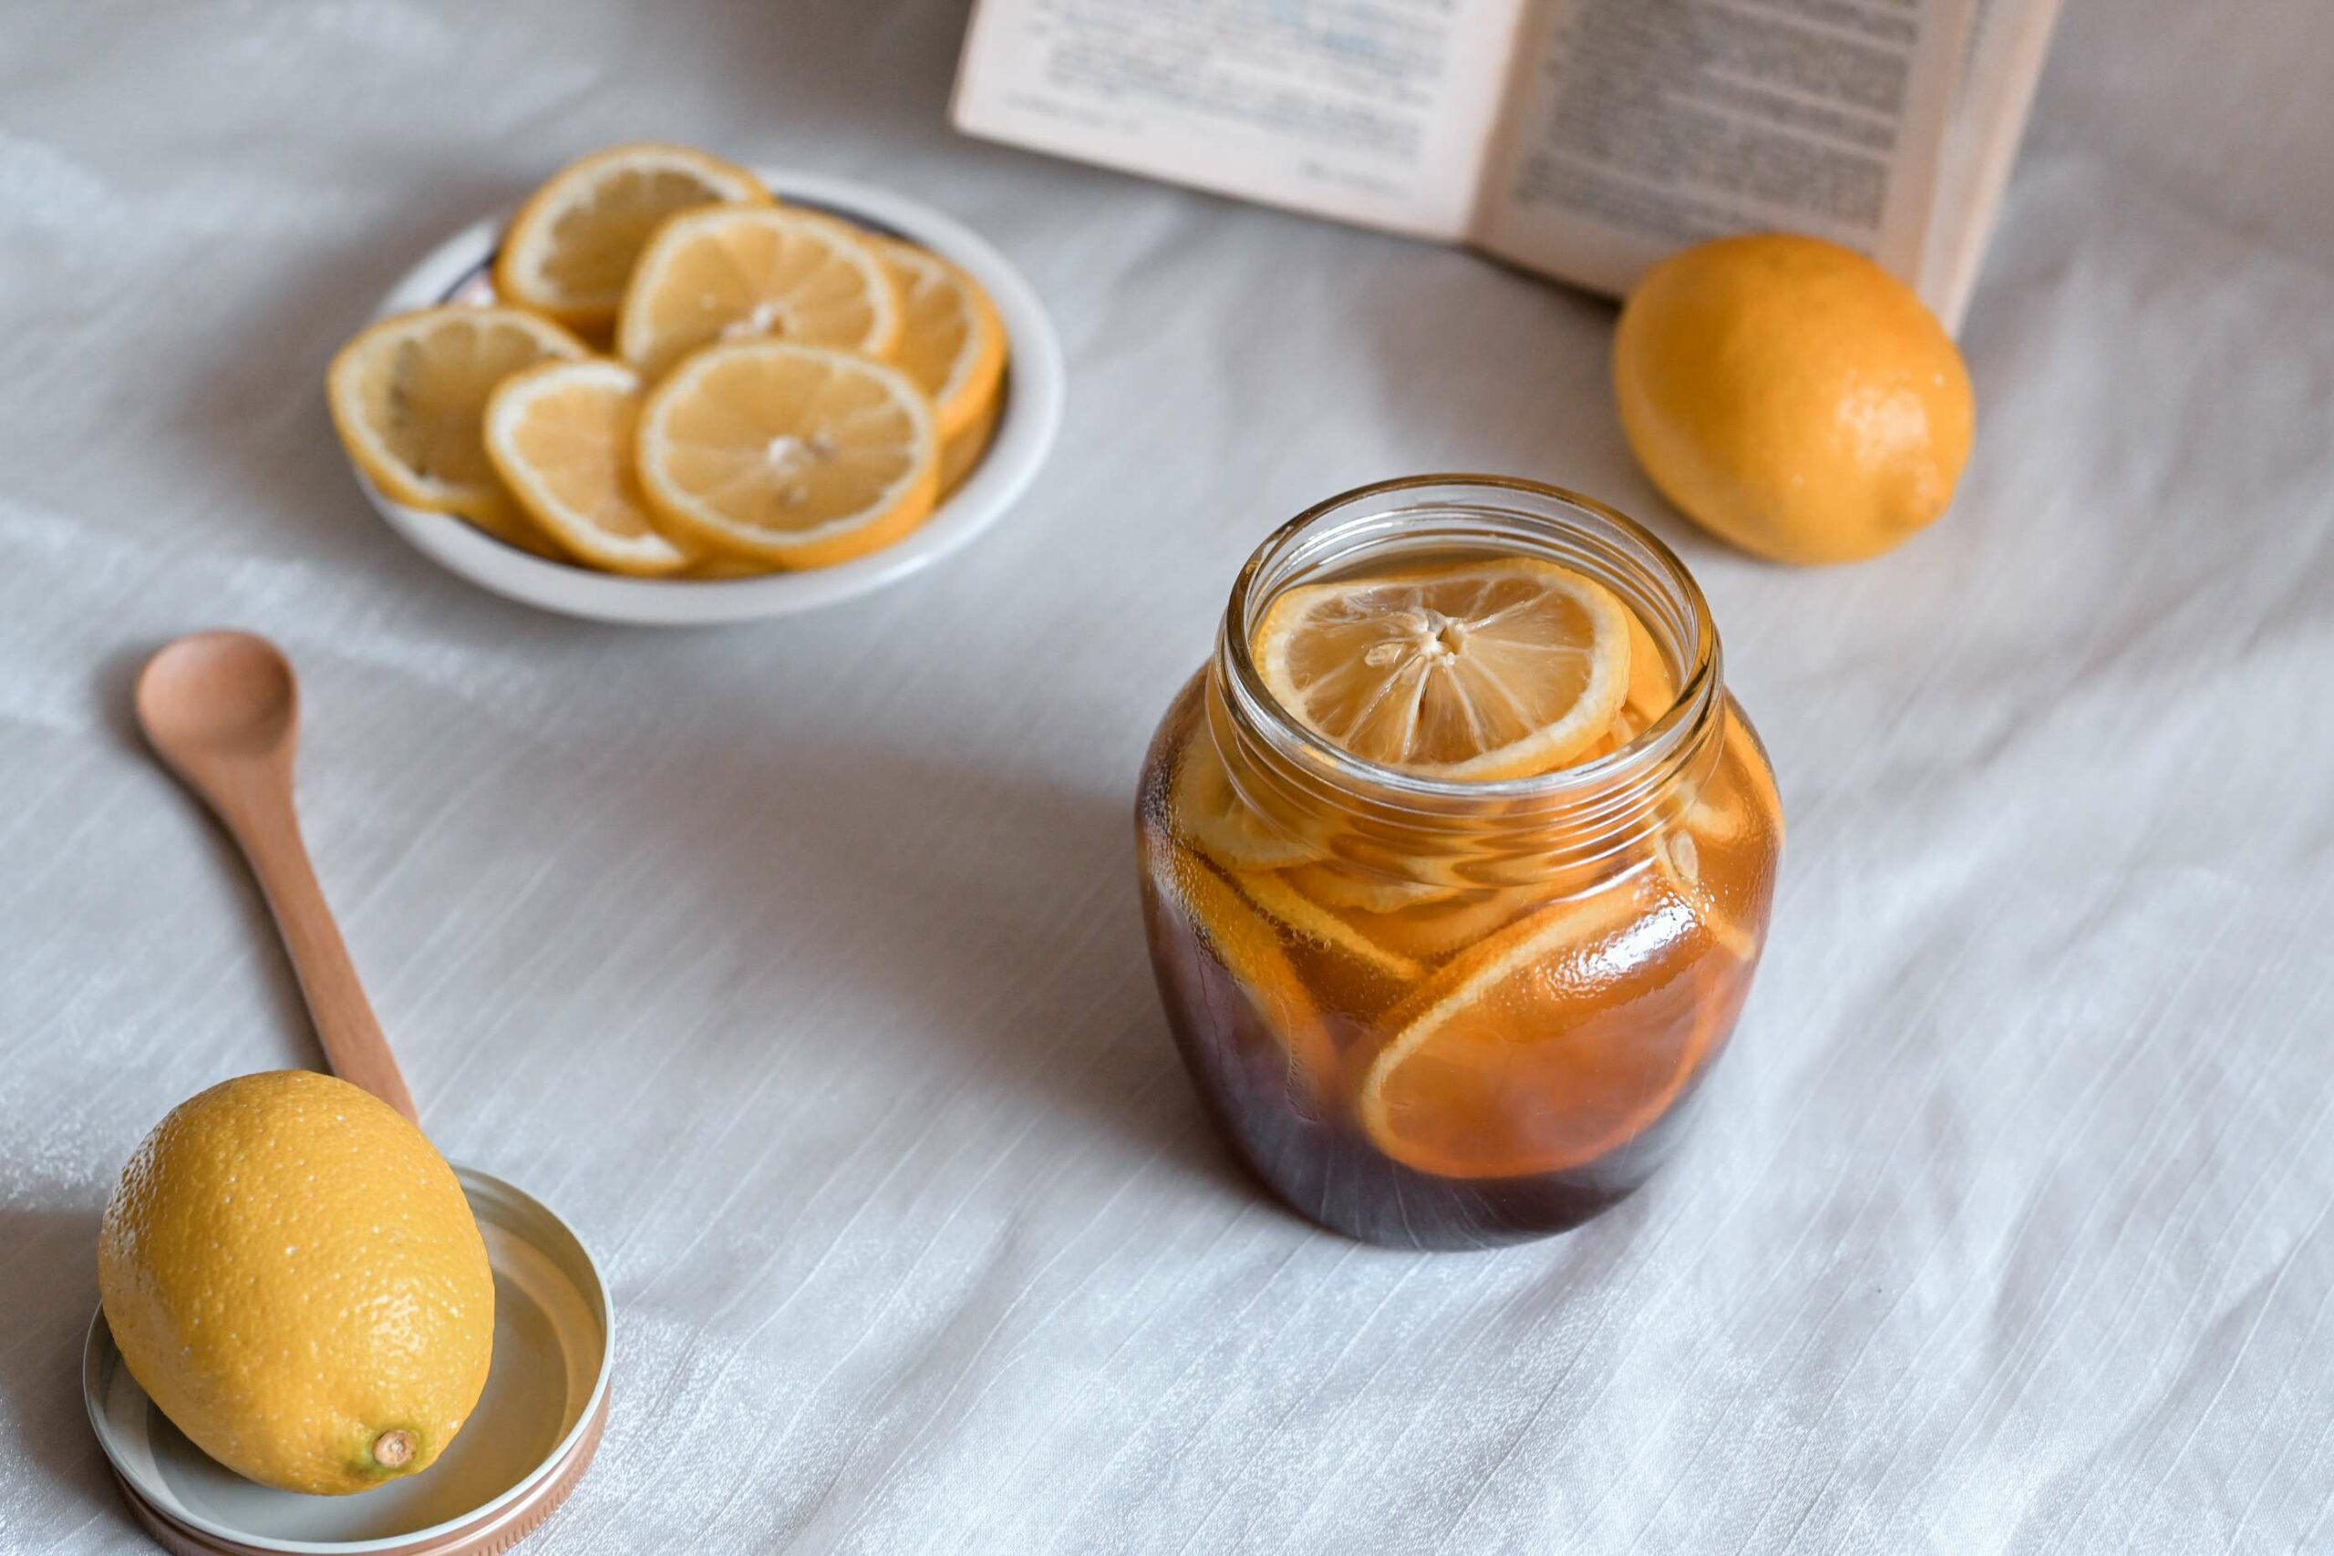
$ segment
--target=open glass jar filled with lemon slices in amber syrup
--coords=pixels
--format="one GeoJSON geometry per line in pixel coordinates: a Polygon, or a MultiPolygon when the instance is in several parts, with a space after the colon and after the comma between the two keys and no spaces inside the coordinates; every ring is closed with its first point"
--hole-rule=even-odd
{"type": "Polygon", "coordinates": [[[1783,812],[1678,558],[1603,504],[1419,476],[1232,586],[1137,795],[1167,1022],[1298,1213],[1473,1248],[1669,1155],[1758,968],[1783,812]]]}

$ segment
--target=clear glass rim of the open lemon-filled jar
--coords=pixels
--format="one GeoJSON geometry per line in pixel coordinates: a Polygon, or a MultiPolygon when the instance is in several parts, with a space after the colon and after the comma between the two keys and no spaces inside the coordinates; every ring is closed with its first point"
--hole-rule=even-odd
{"type": "MultiPolygon", "coordinates": [[[[1638,609],[1643,602],[1631,600],[1638,609]]],[[[1648,630],[1652,623],[1648,623],[1648,630]]],[[[1657,788],[1669,772],[1683,765],[1694,749],[1694,733],[1706,728],[1720,707],[1720,644],[1718,625],[1711,618],[1701,586],[1657,534],[1620,509],[1596,502],[1582,492],[1522,476],[1487,474],[1426,474],[1375,481],[1347,492],[1337,492],[1305,509],[1249,553],[1232,597],[1225,602],[1223,623],[1216,639],[1218,674],[1237,693],[1239,714],[1260,726],[1267,737],[1293,749],[1305,765],[1342,786],[1363,784],[1393,800],[1421,800],[1428,805],[1466,802],[1515,802],[1552,800],[1564,802],[1603,788],[1643,791],[1657,788]],[[1435,492],[1435,497],[1426,497],[1435,492]],[[1400,502],[1414,497],[1414,502],[1400,502]],[[1475,502],[1468,502],[1468,499],[1475,502]],[[1307,728],[1265,686],[1253,656],[1253,632],[1263,609],[1293,583],[1316,553],[1354,532],[1379,530],[1384,534],[1363,537],[1340,560],[1368,555],[1382,541],[1393,541],[1417,520],[1442,513],[1452,518],[1496,518],[1522,530],[1566,534],[1589,541],[1615,560],[1627,560],[1645,581],[1669,595],[1678,623],[1678,695],[1659,719],[1638,730],[1627,744],[1596,761],[1575,768],[1557,768],[1536,777],[1498,781],[1433,779],[1400,768],[1372,763],[1337,747],[1328,737],[1307,728]],[[1407,520],[1407,525],[1405,525],[1407,520]]]]}

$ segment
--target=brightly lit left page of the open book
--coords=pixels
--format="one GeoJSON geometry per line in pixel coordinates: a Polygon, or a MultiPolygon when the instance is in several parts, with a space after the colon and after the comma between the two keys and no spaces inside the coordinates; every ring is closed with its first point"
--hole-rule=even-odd
{"type": "Polygon", "coordinates": [[[980,0],[957,128],[1463,238],[1524,0],[980,0]]]}

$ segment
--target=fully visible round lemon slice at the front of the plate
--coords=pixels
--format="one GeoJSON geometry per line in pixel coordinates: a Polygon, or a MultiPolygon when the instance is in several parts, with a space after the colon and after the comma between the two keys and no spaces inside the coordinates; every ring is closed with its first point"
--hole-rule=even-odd
{"type": "Polygon", "coordinates": [[[831,567],[931,513],[941,443],[906,373],[784,341],[707,348],[640,411],[640,485],[712,551],[831,567]]]}

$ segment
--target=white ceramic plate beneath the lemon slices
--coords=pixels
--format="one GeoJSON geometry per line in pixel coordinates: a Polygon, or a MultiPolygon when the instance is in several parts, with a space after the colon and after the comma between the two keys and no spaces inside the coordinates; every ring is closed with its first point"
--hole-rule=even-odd
{"type": "MultiPolygon", "coordinates": [[[[987,287],[1006,324],[1006,401],[987,455],[964,485],[934,509],[908,539],[882,551],[796,574],[761,579],[623,579],[546,562],[464,525],[446,513],[425,513],[390,502],[364,474],[357,485],[397,534],[439,567],[509,600],[586,616],[644,625],[710,625],[789,616],[896,583],[931,567],[1004,518],[1027,490],[1062,425],[1062,345],[1053,322],[1004,254],[950,217],[908,196],[819,173],[759,168],[780,201],[815,205],[878,231],[920,243],[964,266],[987,287]]],[[[411,313],[436,303],[485,303],[495,299],[495,245],[509,212],[469,226],[436,245],[380,299],[380,315],[411,313]]],[[[355,469],[355,467],[352,467],[355,469]]]]}

